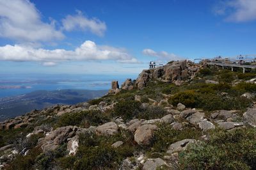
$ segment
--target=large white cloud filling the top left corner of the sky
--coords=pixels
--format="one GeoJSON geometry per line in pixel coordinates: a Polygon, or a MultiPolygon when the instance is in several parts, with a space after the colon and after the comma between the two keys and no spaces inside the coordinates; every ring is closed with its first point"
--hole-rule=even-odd
{"type": "Polygon", "coordinates": [[[19,42],[45,42],[64,37],[54,22],[42,22],[35,5],[24,0],[0,0],[0,36],[19,42]]]}

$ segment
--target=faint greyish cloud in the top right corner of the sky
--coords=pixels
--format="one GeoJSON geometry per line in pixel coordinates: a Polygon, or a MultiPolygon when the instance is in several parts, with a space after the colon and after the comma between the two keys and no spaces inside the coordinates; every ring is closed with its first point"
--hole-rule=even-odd
{"type": "Polygon", "coordinates": [[[246,22],[256,20],[255,0],[227,0],[221,1],[214,7],[214,13],[224,15],[229,22],[246,22]]]}

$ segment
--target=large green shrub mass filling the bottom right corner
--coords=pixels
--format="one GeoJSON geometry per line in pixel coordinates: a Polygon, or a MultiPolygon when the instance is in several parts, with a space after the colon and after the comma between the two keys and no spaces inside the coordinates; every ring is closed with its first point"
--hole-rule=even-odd
{"type": "Polygon", "coordinates": [[[214,130],[210,140],[179,154],[180,169],[255,169],[256,130],[214,130]]]}

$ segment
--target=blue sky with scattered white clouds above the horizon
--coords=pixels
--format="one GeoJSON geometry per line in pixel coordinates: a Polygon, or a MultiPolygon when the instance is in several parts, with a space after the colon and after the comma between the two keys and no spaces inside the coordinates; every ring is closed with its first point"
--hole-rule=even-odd
{"type": "Polygon", "coordinates": [[[255,0],[0,0],[0,74],[135,74],[255,40],[255,0]]]}

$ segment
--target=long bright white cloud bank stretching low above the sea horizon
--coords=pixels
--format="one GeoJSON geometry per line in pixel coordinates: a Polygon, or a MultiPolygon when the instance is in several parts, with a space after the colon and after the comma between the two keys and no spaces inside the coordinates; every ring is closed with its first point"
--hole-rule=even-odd
{"type": "Polygon", "coordinates": [[[75,50],[35,49],[23,45],[5,45],[0,47],[0,60],[3,61],[39,61],[45,66],[53,66],[60,61],[102,61],[113,60],[120,63],[139,63],[124,49],[96,45],[86,41],[75,50]]]}

